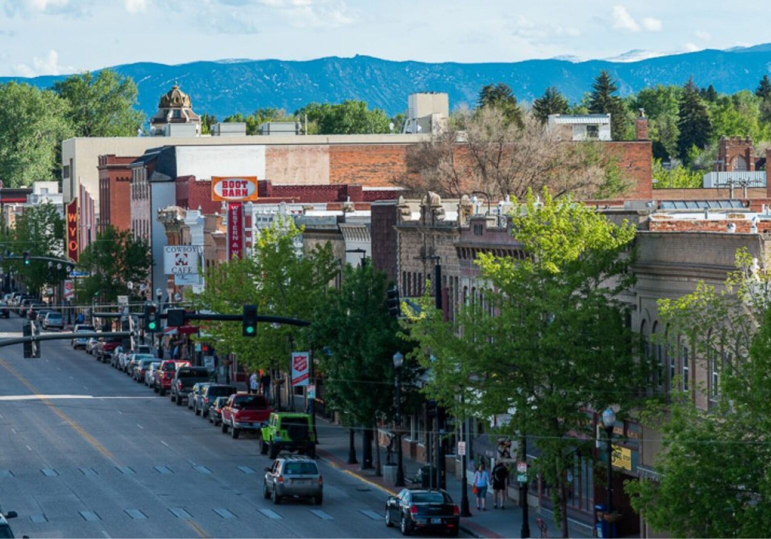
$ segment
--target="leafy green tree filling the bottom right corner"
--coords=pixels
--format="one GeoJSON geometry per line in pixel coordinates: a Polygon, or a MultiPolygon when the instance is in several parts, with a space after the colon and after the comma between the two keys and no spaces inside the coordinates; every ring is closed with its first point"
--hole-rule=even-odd
{"type": "Polygon", "coordinates": [[[651,405],[643,416],[662,433],[659,480],[630,481],[625,490],[655,530],[672,537],[760,537],[771,526],[769,284],[742,250],[722,290],[700,282],[690,294],[659,301],[668,335],[681,335],[718,379],[710,376],[709,386],[698,388],[709,392],[709,410],[675,389],[666,408],[651,405]]]}

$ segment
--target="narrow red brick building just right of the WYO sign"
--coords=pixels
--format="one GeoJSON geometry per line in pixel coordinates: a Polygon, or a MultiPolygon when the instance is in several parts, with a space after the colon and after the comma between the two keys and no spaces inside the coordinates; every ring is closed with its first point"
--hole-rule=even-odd
{"type": "Polygon", "coordinates": [[[131,163],[136,157],[100,155],[99,166],[99,231],[113,225],[119,231],[131,226],[131,163]]]}

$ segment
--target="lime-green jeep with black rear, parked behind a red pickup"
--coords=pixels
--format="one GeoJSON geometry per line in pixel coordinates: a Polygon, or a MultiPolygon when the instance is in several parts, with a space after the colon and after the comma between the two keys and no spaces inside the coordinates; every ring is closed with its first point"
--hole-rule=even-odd
{"type": "Polygon", "coordinates": [[[260,452],[275,459],[281,451],[296,451],[316,458],[316,433],[307,413],[274,412],[261,430],[260,452]]]}

